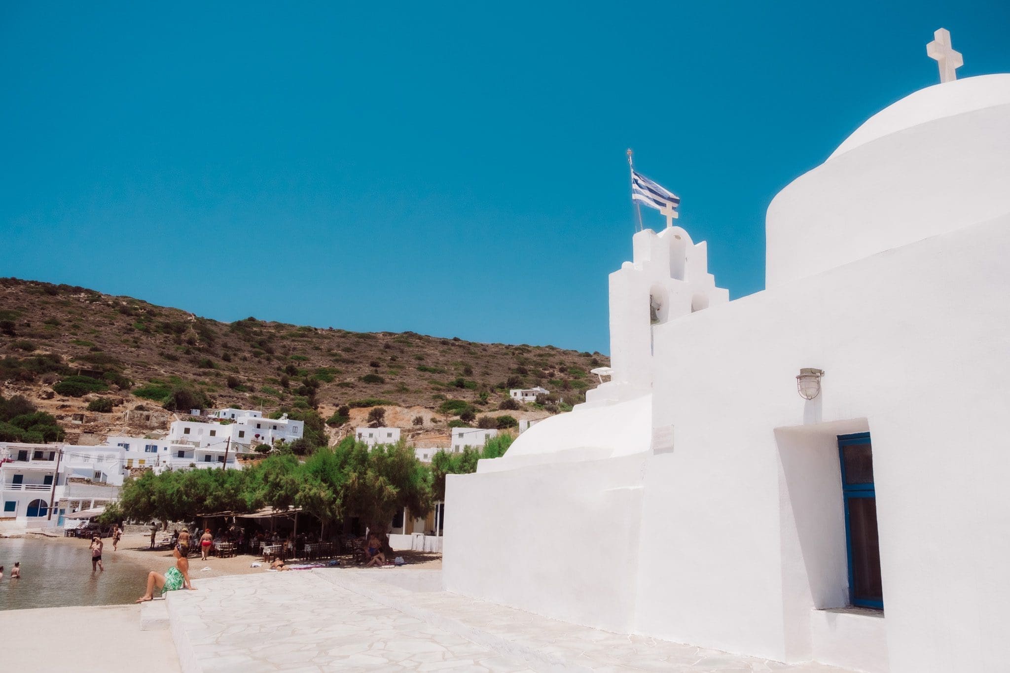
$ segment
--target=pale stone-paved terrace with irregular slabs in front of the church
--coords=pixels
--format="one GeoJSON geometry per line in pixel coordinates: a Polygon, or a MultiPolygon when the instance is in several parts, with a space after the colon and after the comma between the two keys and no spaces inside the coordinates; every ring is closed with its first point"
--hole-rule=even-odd
{"type": "Polygon", "coordinates": [[[579,627],[441,591],[439,571],[237,575],[172,593],[186,673],[701,671],[847,673],[579,627]]]}

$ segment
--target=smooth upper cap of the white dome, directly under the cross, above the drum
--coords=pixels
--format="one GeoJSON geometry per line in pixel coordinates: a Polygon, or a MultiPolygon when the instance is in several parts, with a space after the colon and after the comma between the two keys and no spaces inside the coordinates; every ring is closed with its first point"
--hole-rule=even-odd
{"type": "Polygon", "coordinates": [[[829,159],[906,128],[936,119],[1010,104],[1010,74],[982,75],[926,87],[868,119],[829,159]]]}

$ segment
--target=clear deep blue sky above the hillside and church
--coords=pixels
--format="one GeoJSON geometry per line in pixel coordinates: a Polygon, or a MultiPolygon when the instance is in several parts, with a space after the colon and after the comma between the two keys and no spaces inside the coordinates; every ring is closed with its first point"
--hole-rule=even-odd
{"type": "Polygon", "coordinates": [[[1005,0],[283,4],[0,4],[0,275],[606,352],[626,147],[736,298],[934,29],[1010,71],[1005,0]]]}

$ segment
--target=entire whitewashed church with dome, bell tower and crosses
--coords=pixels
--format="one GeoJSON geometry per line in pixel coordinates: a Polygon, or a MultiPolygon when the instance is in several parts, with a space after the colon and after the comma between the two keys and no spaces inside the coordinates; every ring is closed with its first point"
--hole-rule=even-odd
{"type": "MultiPolygon", "coordinates": [[[[447,590],[871,673],[1010,671],[1010,75],[858,127],[768,209],[610,275],[611,380],[446,488],[447,590]]],[[[943,33],[943,34],[941,34],[943,33]]]]}

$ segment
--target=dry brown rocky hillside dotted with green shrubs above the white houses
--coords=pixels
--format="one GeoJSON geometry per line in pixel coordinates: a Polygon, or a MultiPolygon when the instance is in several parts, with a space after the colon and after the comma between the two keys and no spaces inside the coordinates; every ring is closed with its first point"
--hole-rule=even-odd
{"type": "Polygon", "coordinates": [[[565,411],[596,385],[589,370],[609,364],[600,353],[553,346],[347,332],[255,317],[222,323],[129,297],[17,278],[0,278],[0,356],[2,395],[24,395],[57,415],[68,424],[69,440],[75,433],[157,430],[169,412],[191,407],[314,409],[339,434],[364,423],[376,406],[387,409],[387,423],[423,439],[459,423],[461,414],[476,424],[482,415],[541,418],[565,411]],[[508,388],[532,385],[552,395],[540,405],[498,411],[508,388]]]}

